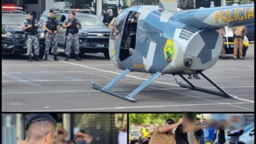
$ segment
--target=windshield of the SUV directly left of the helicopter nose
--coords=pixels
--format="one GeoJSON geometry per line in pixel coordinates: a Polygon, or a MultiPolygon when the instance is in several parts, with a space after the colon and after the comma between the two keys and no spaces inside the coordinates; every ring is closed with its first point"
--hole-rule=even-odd
{"type": "Polygon", "coordinates": [[[102,22],[96,17],[91,16],[77,16],[81,22],[81,26],[104,26],[102,22]]]}

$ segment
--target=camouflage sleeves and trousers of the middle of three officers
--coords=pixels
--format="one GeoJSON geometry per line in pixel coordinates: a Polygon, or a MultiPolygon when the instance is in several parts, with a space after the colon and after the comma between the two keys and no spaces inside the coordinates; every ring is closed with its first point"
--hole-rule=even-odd
{"type": "MultiPolygon", "coordinates": [[[[45,20],[45,22],[43,22],[43,25],[47,25],[48,24],[48,18],[45,20]]],[[[58,20],[56,22],[56,24],[58,25],[58,20]]],[[[51,43],[53,43],[53,54],[58,54],[57,50],[57,37],[56,37],[56,33],[49,33],[47,31],[46,35],[45,35],[45,54],[49,54],[49,48],[51,43]]]]}

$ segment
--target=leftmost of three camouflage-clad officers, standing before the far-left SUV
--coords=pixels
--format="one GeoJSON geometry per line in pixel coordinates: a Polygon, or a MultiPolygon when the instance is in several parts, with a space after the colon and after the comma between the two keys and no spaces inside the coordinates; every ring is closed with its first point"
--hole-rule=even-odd
{"type": "Polygon", "coordinates": [[[37,20],[33,18],[33,12],[28,13],[28,19],[26,19],[22,24],[22,30],[26,31],[26,46],[28,49],[29,62],[32,62],[32,48],[34,48],[35,61],[39,60],[39,42],[37,39],[37,20]]]}

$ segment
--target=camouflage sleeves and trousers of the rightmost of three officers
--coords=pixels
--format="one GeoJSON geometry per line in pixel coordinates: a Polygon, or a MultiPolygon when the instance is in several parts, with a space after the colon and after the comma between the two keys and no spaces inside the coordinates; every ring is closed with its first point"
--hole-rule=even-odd
{"type": "MultiPolygon", "coordinates": [[[[77,20],[77,18],[75,18],[77,20]]],[[[70,19],[68,18],[65,20],[64,24],[68,25],[70,22],[70,19]]],[[[77,20],[78,24],[81,25],[79,20],[77,20]]],[[[66,36],[66,48],[65,48],[65,54],[70,54],[70,46],[74,45],[75,54],[79,54],[79,38],[78,33],[68,33],[66,36]]]]}

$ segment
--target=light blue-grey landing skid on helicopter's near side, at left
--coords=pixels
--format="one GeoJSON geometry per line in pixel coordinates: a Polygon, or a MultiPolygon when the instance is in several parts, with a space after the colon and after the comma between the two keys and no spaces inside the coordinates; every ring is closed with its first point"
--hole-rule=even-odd
{"type": "Polygon", "coordinates": [[[107,94],[111,94],[112,96],[116,96],[117,98],[121,98],[121,99],[125,99],[127,101],[131,101],[131,102],[136,102],[135,99],[133,99],[133,97],[138,94],[141,90],[143,90],[146,86],[148,86],[148,84],[150,84],[151,82],[153,82],[155,79],[157,79],[158,77],[160,77],[161,73],[157,72],[154,75],[152,75],[152,77],[150,77],[150,79],[148,79],[147,81],[144,81],[138,88],[136,88],[135,90],[133,90],[133,92],[131,92],[131,94],[129,95],[125,95],[125,94],[117,94],[116,92],[113,92],[112,90],[110,90],[110,88],[112,86],[114,86],[114,84],[116,84],[118,81],[120,81],[123,77],[125,77],[125,75],[127,75],[127,73],[129,73],[131,70],[130,69],[125,69],[123,71],[123,73],[121,73],[120,75],[117,75],[116,78],[114,78],[111,82],[109,82],[106,86],[104,86],[103,88],[100,86],[97,86],[95,84],[95,82],[91,79],[90,82],[93,85],[93,88],[95,88],[96,90],[100,90],[102,92],[106,92],[107,94]]]}

